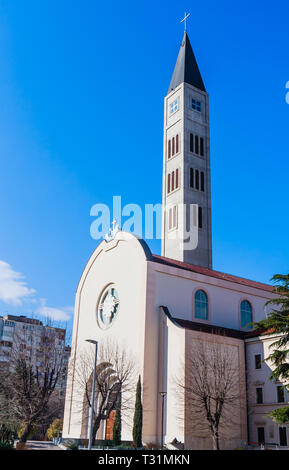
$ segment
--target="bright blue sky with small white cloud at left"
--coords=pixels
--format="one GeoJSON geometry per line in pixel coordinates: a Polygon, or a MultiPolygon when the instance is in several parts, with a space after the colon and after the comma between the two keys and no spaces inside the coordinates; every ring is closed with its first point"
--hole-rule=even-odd
{"type": "Polygon", "coordinates": [[[288,273],[288,0],[1,0],[0,313],[71,325],[92,205],[161,202],[185,11],[210,94],[213,267],[288,273]]]}

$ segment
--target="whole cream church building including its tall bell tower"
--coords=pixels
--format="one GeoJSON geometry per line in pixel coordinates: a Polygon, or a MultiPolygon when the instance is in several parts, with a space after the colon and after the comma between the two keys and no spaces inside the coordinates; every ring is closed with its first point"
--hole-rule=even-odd
{"type": "MultiPolygon", "coordinates": [[[[212,268],[209,98],[186,31],[164,100],[163,137],[161,255],[120,229],[99,243],[85,266],[75,299],[63,437],[81,441],[89,435],[76,371],[91,339],[125,345],[134,358],[145,444],[212,448],[209,425],[194,415],[189,390],[192,364],[207,345],[219,358],[229,357],[234,372],[234,410],[232,419],[223,419],[220,447],[286,446],[288,431],[267,414],[288,399],[280,402],[282,384],[268,381],[268,338],[250,324],[264,318],[265,304],[276,294],[271,285],[212,268]],[[189,249],[191,218],[197,243],[189,249]]],[[[122,422],[125,441],[132,440],[133,413],[132,407],[122,422]]],[[[110,429],[111,420],[103,420],[97,439],[108,438],[110,429]]]]}

